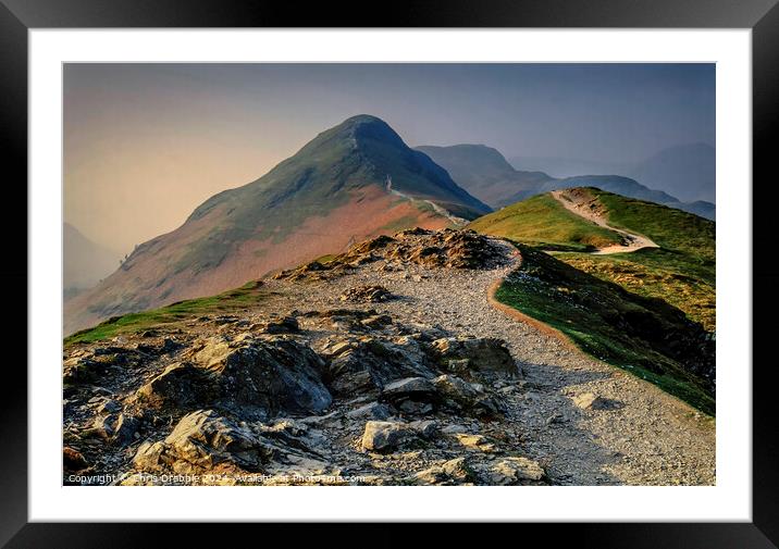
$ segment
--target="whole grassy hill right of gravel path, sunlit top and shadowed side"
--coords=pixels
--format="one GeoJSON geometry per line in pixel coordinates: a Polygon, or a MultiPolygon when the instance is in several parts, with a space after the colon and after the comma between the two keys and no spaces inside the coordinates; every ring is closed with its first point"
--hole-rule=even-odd
{"type": "Polygon", "coordinates": [[[645,235],[659,248],[589,253],[619,235],[551,195],[533,197],[469,225],[511,239],[522,251],[522,266],[497,299],[713,413],[715,224],[653,202],[583,190],[596,198],[611,226],[645,235]]]}

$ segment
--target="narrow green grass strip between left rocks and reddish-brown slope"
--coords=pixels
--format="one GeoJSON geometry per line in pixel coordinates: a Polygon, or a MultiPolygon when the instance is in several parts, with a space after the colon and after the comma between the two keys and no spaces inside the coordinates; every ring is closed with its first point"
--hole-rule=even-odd
{"type": "Polygon", "coordinates": [[[178,301],[160,309],[111,317],[92,328],[76,332],[64,339],[65,347],[78,342],[100,341],[121,334],[143,332],[175,324],[205,314],[224,314],[250,307],[265,298],[267,291],[251,282],[240,288],[207,298],[178,301]]]}

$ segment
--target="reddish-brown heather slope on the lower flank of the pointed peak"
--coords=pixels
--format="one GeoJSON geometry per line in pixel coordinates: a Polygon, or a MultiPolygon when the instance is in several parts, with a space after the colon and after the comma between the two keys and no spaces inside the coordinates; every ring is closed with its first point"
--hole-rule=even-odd
{"type": "MultiPolygon", "coordinates": [[[[214,211],[213,216],[221,212],[214,211]]],[[[343,251],[350,242],[378,235],[391,235],[397,228],[423,227],[430,229],[450,226],[445,217],[432,211],[423,211],[412,202],[387,195],[378,186],[355,192],[348,202],[327,215],[311,217],[290,232],[281,242],[270,238],[247,240],[217,267],[208,272],[184,271],[168,274],[168,265],[157,261],[158,255],[181,254],[193,238],[201,237],[201,227],[208,219],[194,226],[183,226],[152,240],[150,253],[134,261],[129,269],[120,269],[94,291],[69,301],[65,305],[65,333],[72,333],[107,316],[122,314],[122,297],[144,292],[144,301],[133,310],[144,310],[200,296],[211,296],[235,288],[262,275],[310,261],[325,253],[343,251]],[[153,285],[139,285],[141,280],[158,280],[153,285]],[[115,311],[100,309],[100,301],[120,303],[115,311]],[[90,308],[92,309],[90,311],[90,308]],[[108,313],[108,314],[107,314],[108,313]]],[[[143,282],[141,282],[143,284],[143,282]]]]}

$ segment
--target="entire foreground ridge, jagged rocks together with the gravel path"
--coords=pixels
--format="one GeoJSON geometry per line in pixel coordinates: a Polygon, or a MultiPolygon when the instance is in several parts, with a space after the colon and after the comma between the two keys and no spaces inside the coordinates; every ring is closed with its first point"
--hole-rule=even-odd
{"type": "Polygon", "coordinates": [[[240,314],[69,346],[63,482],[713,482],[705,419],[490,308],[517,261],[408,230],[264,279],[240,314]]]}

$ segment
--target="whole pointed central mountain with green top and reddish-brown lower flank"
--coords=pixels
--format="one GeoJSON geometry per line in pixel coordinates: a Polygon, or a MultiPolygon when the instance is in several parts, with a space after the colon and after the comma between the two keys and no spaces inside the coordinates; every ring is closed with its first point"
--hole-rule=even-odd
{"type": "Polygon", "coordinates": [[[441,228],[489,211],[386,123],[354,116],[259,179],[211,197],[177,229],[138,246],[113,275],[69,301],[65,333],[218,294],[369,236],[441,228]]]}

